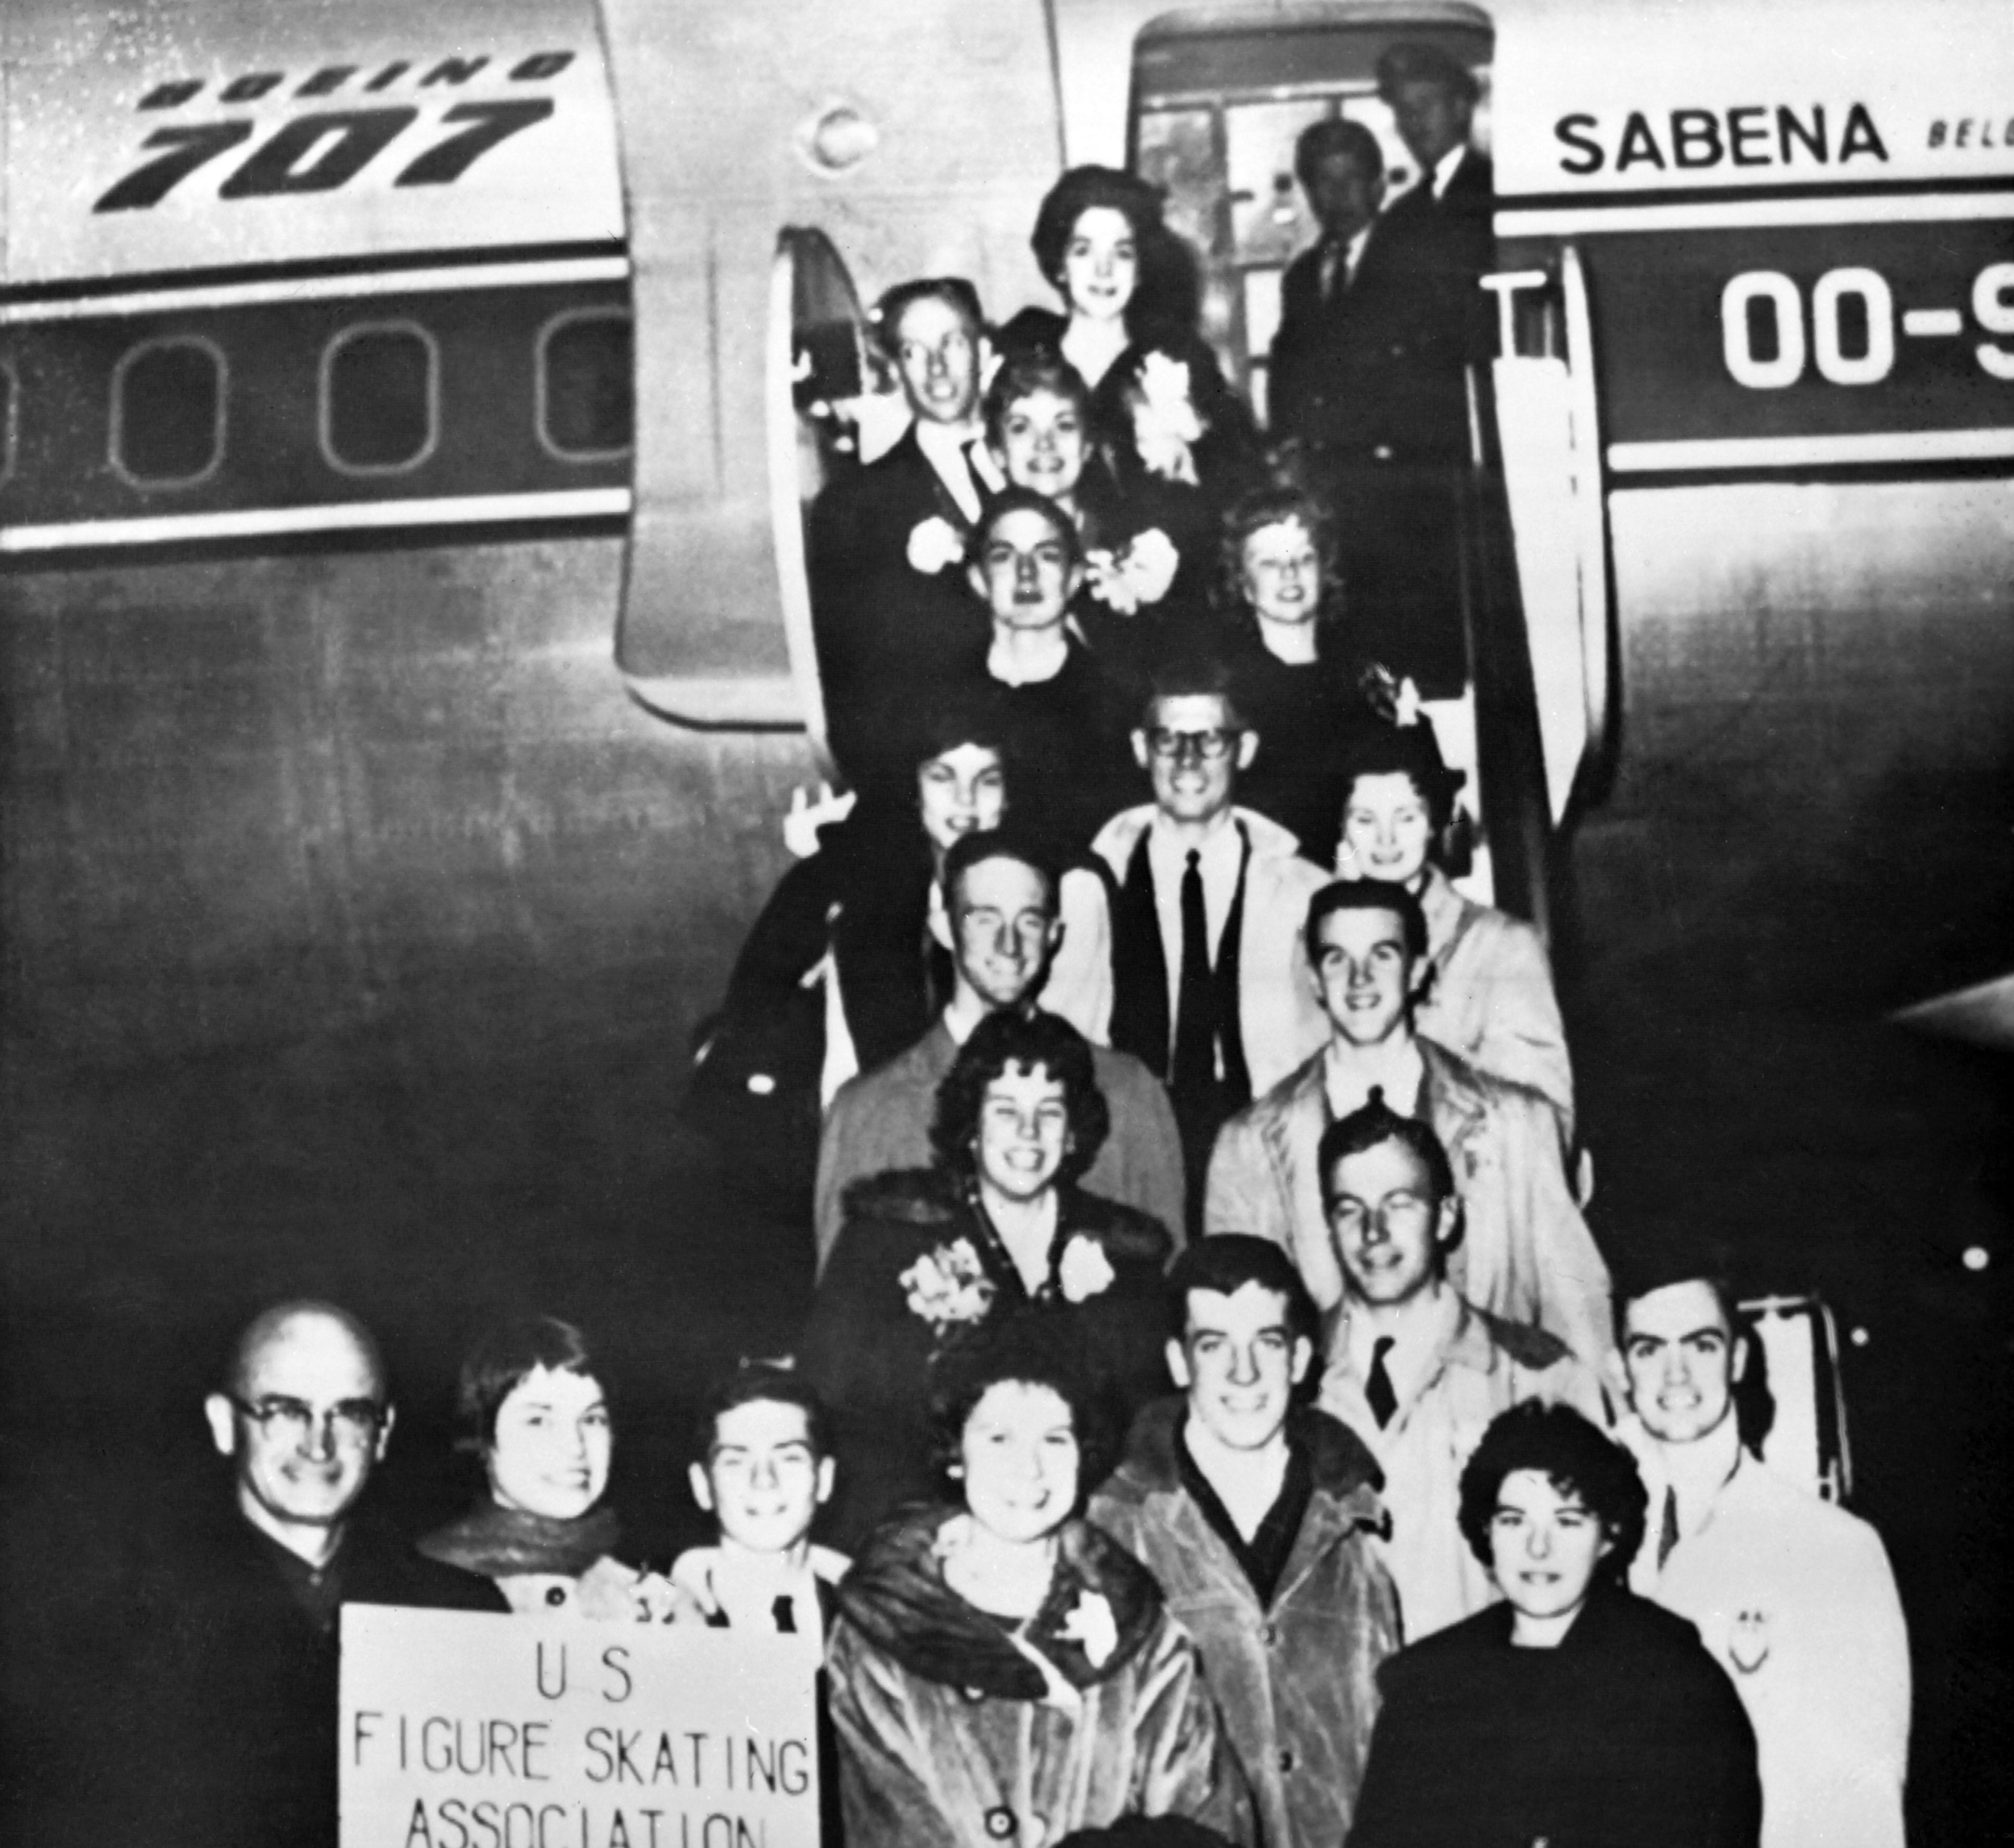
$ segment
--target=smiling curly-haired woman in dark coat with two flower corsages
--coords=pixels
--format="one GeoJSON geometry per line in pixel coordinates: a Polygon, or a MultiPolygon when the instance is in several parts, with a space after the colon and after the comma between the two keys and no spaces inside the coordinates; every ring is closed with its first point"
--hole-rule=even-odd
{"type": "Polygon", "coordinates": [[[1084,1037],[1043,1011],[997,1013],[939,1087],[937,1166],[848,1192],[798,1347],[832,1409],[834,1546],[856,1550],[890,1508],[928,1494],[930,1361],[973,1325],[1027,1304],[1077,1325],[1126,1419],[1168,1389],[1168,1232],[1075,1186],[1106,1129],[1084,1037]]]}

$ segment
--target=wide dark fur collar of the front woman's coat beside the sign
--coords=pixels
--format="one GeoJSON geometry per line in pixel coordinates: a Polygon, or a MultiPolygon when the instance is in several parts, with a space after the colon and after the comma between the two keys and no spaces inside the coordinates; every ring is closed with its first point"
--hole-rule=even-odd
{"type": "MultiPolygon", "coordinates": [[[[959,1510],[910,1508],[882,1526],[838,1584],[840,1614],[876,1649],[912,1675],[1009,1701],[1039,1701],[1047,1691],[1041,1667],[1015,1647],[1003,1623],[967,1604],[945,1584],[939,1532],[959,1510]]],[[[1055,1578],[1041,1610],[1021,1627],[1071,1687],[1086,1689],[1118,1675],[1160,1623],[1162,1598],[1154,1576],[1130,1552],[1084,1520],[1063,1524],[1055,1578]],[[1118,1643],[1092,1663],[1084,1645],[1063,1637],[1063,1625],[1086,1596],[1104,1598],[1118,1643]]]]}

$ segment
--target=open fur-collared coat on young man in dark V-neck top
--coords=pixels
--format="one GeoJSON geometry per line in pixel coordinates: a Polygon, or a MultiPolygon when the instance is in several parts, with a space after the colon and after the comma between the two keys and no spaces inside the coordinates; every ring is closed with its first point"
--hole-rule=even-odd
{"type": "Polygon", "coordinates": [[[1378,1665],[1400,1645],[1398,1592],[1372,1548],[1386,1524],[1378,1464],[1353,1431],[1297,1411],[1313,1494],[1269,1604],[1182,1484],[1186,1407],[1150,1405],[1092,1520],[1160,1580],[1196,1639],[1251,1780],[1267,1848],[1329,1848],[1349,1832],[1378,1715],[1378,1665]]]}

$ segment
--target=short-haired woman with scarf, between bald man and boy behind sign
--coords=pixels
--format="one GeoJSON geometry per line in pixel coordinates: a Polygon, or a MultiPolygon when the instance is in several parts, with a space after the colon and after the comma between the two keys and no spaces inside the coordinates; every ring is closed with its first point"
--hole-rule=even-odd
{"type": "Polygon", "coordinates": [[[455,1447],[481,1457],[487,1494],[419,1550],[493,1578],[520,1614],[669,1616],[671,1586],[614,1556],[604,1373],[580,1329],[558,1317],[489,1329],[461,1365],[455,1403],[455,1447]]]}

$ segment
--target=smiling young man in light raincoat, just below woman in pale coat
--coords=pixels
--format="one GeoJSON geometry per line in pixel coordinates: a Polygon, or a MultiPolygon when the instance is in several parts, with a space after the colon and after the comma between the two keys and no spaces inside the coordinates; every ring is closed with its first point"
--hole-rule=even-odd
{"type": "Polygon", "coordinates": [[[1420,900],[1382,880],[1323,886],[1307,908],[1307,966],[1327,1045],[1225,1125],[1204,1230],[1285,1246],[1315,1302],[1333,1308],[1343,1272],[1317,1149],[1327,1125],[1376,1089],[1446,1149],[1462,1206],[1462,1294],[1506,1323],[1549,1329],[1599,1365],[1611,1339],[1609,1272],[1567,1184],[1559,1117],[1537,1091],[1488,1077],[1412,1029],[1428,968],[1420,900]]]}

